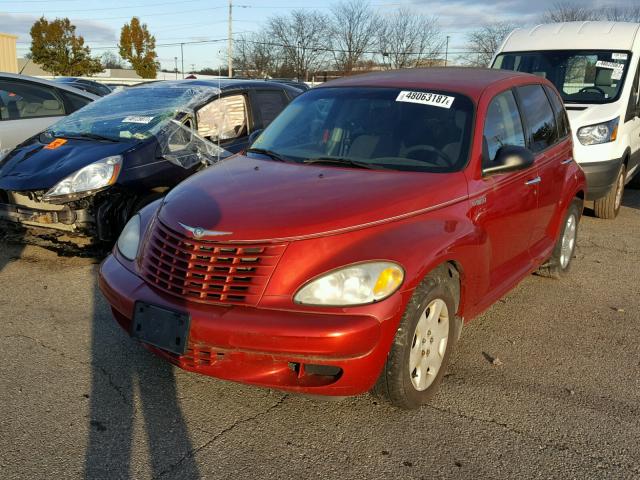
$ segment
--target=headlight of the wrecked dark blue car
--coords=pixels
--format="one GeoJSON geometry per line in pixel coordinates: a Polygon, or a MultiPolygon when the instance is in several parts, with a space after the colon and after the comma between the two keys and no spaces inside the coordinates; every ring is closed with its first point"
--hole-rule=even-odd
{"type": "Polygon", "coordinates": [[[58,182],[45,194],[44,198],[47,200],[51,197],[90,192],[113,185],[118,179],[121,167],[120,155],[98,160],[58,182]]]}

